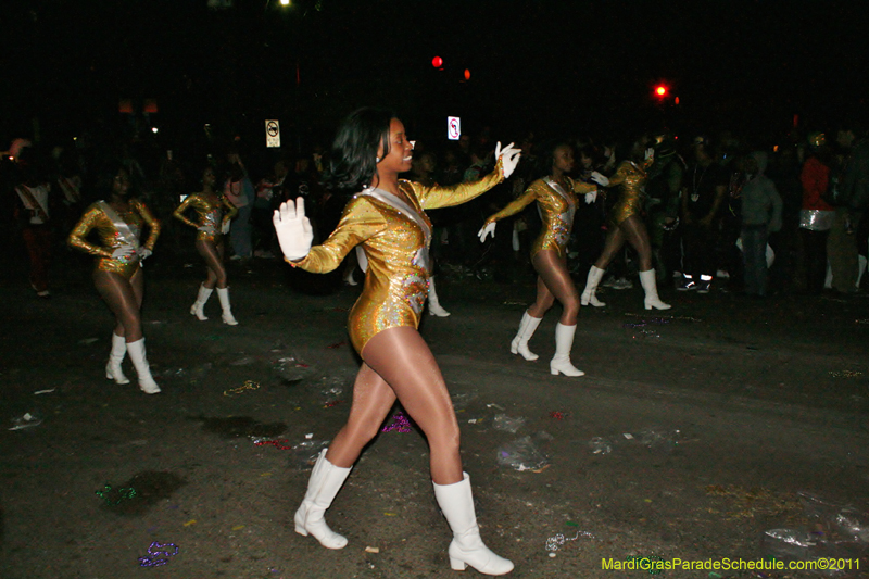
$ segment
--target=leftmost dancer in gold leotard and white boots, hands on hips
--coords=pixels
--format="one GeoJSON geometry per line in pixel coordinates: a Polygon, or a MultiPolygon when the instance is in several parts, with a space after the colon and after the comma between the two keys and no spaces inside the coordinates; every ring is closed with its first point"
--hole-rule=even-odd
{"type": "Polygon", "coordinates": [[[142,336],[141,306],[144,276],[141,262],[154,250],[160,235],[158,222],[138,199],[129,197],[129,176],[119,168],[112,179],[109,201],[98,201],[85,210],[73,228],[67,243],[97,257],[93,284],[115,315],[112,353],[105,366],[105,377],[116,383],[129,383],[121,369],[124,356],[129,357],[139,375],[139,388],[147,394],[160,392],[148,366],[142,336]],[[150,229],[148,240],[140,244],[142,226],[150,229]],[[89,243],[88,235],[97,230],[102,246],[89,243]]]}

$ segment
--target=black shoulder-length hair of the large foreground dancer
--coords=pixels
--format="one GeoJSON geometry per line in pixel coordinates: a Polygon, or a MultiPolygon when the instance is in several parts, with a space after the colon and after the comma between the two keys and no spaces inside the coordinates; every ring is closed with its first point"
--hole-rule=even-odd
{"type": "Polygon", "coordinates": [[[389,109],[365,106],[353,111],[338,127],[332,143],[329,186],[358,191],[377,175],[377,149],[389,154],[389,124],[396,118],[389,109]]]}

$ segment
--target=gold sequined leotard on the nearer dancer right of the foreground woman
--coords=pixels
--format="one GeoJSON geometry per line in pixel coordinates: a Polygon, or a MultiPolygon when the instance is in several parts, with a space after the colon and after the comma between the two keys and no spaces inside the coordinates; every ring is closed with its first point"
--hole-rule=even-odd
{"type": "Polygon", "coordinates": [[[552,250],[559,257],[563,257],[567,240],[570,238],[570,229],[574,227],[577,196],[584,196],[597,190],[594,185],[578,181],[570,177],[566,177],[566,179],[570,187],[569,191],[565,191],[549,177],[536,180],[528,186],[521,197],[489,217],[486,223],[498,222],[516,215],[537,201],[543,227],[531,247],[531,257],[543,250],[552,250]]]}

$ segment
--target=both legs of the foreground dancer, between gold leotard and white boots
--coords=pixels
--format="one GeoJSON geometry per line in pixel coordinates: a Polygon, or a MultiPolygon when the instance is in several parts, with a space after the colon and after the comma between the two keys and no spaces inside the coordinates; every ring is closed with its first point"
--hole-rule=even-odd
{"type": "Polygon", "coordinates": [[[395,397],[426,435],[431,479],[438,484],[463,480],[458,421],[434,356],[412,327],[383,330],[362,352],[348,424],[332,441],[327,458],[350,466],[376,435],[395,397]],[[366,369],[367,366],[367,369],[366,369]],[[368,374],[373,370],[380,380],[368,374]],[[390,389],[390,394],[386,389],[390,389]]]}

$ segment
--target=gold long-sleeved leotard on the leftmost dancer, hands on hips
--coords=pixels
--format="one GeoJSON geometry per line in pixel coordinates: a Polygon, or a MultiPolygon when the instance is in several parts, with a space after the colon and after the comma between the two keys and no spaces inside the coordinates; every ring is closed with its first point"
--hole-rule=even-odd
{"type": "MultiPolygon", "coordinates": [[[[84,215],[70,232],[66,242],[73,248],[99,257],[96,265],[98,270],[112,272],[130,279],[139,270],[139,255],[138,253],[133,253],[125,257],[112,257],[112,253],[116,249],[128,244],[128,240],[124,239],[124,234],[112,218],[105,214],[103,209],[105,206],[108,204],[104,201],[98,201],[85,210],[84,215]],[[97,229],[102,247],[87,242],[87,237],[92,229],[97,229]]],[[[160,222],[154,218],[144,203],[138,199],[130,199],[129,210],[117,211],[116,214],[127,224],[127,227],[136,237],[136,242],[141,237],[142,225],[147,224],[149,234],[144,247],[154,251],[156,238],[160,236],[160,222]]]]}

